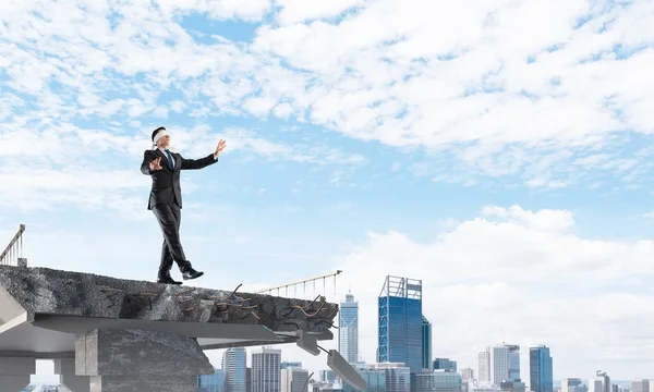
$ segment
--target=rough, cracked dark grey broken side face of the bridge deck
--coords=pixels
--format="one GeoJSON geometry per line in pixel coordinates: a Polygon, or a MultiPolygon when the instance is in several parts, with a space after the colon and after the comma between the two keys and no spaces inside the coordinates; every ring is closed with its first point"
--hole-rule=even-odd
{"type": "MultiPolygon", "coordinates": [[[[338,310],[337,304],[319,301],[311,305],[311,301],[304,299],[239,292],[232,295],[232,290],[168,285],[49,268],[0,266],[0,286],[32,319],[35,314],[49,314],[253,323],[272,331],[323,332],[330,329],[338,310]]],[[[3,319],[2,308],[0,319],[3,319]]]]}

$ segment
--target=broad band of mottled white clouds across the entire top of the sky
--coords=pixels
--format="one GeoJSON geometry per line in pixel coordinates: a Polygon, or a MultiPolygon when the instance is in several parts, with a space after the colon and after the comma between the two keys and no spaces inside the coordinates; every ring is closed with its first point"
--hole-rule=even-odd
{"type": "Polygon", "coordinates": [[[267,0],[238,4],[12,7],[0,14],[0,66],[8,86],[41,97],[31,119],[140,120],[165,115],[159,105],[202,120],[276,115],[427,148],[444,156],[429,175],[462,183],[518,175],[557,188],[608,172],[634,188],[651,171],[651,150],[616,163],[629,132],[654,128],[654,86],[642,76],[654,61],[647,2],[283,0],[275,4],[282,24],[264,22],[252,45],[217,36],[201,44],[179,24],[179,13],[263,21],[272,10],[267,0]],[[48,20],[29,13],[37,8],[48,20]],[[107,20],[109,11],[121,17],[107,20]],[[619,45],[637,52],[617,58],[619,45]],[[177,89],[184,101],[158,101],[177,89]],[[584,159],[591,152],[602,163],[584,159]],[[458,175],[448,175],[453,168],[458,175]]]}

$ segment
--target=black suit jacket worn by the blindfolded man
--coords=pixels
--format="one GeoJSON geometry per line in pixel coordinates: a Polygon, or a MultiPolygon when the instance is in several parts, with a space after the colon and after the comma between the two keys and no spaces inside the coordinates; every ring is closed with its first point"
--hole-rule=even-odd
{"type": "Polygon", "coordinates": [[[170,169],[168,157],[158,148],[154,150],[145,150],[143,154],[143,163],[141,163],[141,172],[153,177],[153,188],[150,191],[147,209],[152,210],[154,206],[159,204],[172,204],[177,200],[180,208],[182,207],[182,187],[180,185],[180,172],[182,170],[193,170],[206,168],[209,164],[216,163],[214,154],[201,159],[185,159],[181,154],[172,152],[174,160],[174,170],[170,169]],[[160,170],[150,170],[149,163],[156,158],[161,157],[160,170]]]}

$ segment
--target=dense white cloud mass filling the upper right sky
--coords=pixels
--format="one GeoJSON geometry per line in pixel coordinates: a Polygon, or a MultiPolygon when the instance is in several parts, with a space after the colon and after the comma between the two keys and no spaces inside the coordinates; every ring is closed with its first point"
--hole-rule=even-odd
{"type": "Polygon", "coordinates": [[[559,187],[584,179],[559,166],[615,143],[609,135],[619,142],[630,137],[622,131],[654,126],[651,111],[639,109],[651,103],[643,78],[650,49],[580,63],[618,44],[654,41],[629,23],[652,21],[649,3],[606,9],[585,1],[375,1],[336,24],[265,26],[254,45],[314,76],[295,100],[310,100],[315,123],[363,140],[449,150],[467,170],[524,173],[528,185],[559,187]],[[576,29],[589,12],[591,21],[576,29]],[[542,173],[532,161],[544,155],[550,159],[541,161],[542,173]]]}

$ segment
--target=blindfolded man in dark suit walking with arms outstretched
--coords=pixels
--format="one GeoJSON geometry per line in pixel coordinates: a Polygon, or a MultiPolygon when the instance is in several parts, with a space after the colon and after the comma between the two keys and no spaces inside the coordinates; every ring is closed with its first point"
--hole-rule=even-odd
{"type": "Polygon", "coordinates": [[[182,188],[180,171],[202,169],[218,161],[218,155],[226,146],[220,139],[216,151],[201,159],[185,159],[179,152],[169,149],[170,135],[160,126],[153,132],[153,149],[143,154],[141,172],[153,179],[147,209],[157,217],[164,233],[161,262],[159,265],[158,283],[182,284],[170,277],[172,261],[177,262],[184,280],[199,278],[204,272],[196,271],[186,259],[180,242],[180,223],[182,220],[182,188]]]}

